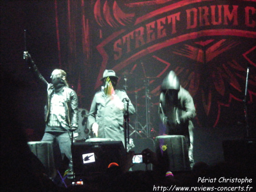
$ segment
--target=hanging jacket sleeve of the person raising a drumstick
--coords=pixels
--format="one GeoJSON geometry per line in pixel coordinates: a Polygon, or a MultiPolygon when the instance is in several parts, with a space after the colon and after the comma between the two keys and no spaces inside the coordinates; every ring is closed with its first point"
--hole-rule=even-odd
{"type": "Polygon", "coordinates": [[[72,110],[72,119],[71,127],[78,128],[78,98],[76,92],[72,90],[71,92],[71,110],[72,110]]]}

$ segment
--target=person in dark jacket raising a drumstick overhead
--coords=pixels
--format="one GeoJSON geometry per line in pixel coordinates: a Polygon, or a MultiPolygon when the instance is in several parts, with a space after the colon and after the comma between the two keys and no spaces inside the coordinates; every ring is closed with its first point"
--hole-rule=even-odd
{"type": "Polygon", "coordinates": [[[25,51],[24,59],[47,87],[48,102],[45,106],[45,134],[41,141],[51,141],[55,139],[59,144],[62,158],[64,155],[69,159],[70,172],[73,170],[71,155],[71,132],[78,127],[78,99],[74,90],[70,89],[66,81],[67,74],[61,69],[53,70],[51,83],[38,71],[30,54],[25,51]]]}

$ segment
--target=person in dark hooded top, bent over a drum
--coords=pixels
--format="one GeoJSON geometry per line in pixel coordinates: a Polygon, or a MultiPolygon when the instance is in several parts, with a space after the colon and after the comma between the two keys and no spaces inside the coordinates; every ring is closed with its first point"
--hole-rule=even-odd
{"type": "Polygon", "coordinates": [[[193,158],[193,123],[196,116],[193,98],[180,86],[174,71],[170,71],[161,86],[159,114],[165,125],[166,135],[183,135],[186,138],[190,167],[194,165],[193,158]]]}

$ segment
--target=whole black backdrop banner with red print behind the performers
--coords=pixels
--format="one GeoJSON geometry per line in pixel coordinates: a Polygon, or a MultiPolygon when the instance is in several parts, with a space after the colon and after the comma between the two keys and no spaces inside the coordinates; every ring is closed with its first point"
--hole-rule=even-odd
{"type": "Polygon", "coordinates": [[[249,69],[248,112],[255,117],[255,0],[55,0],[55,11],[59,65],[75,74],[84,105],[103,71],[113,69],[140,121],[150,95],[157,126],[160,86],[174,70],[194,98],[198,125],[243,124],[249,69]]]}

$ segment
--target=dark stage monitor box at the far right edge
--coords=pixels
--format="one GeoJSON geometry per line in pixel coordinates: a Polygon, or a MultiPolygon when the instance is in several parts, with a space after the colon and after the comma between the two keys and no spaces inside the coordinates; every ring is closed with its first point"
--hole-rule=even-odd
{"type": "Polygon", "coordinates": [[[222,142],[226,162],[255,167],[256,139],[230,139],[222,142]]]}

